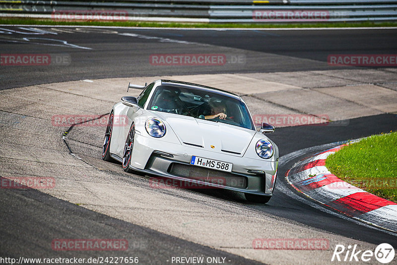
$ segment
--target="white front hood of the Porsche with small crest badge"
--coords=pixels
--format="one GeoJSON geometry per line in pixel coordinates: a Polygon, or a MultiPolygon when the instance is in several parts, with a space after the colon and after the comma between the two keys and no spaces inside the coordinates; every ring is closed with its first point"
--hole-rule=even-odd
{"type": "Polygon", "coordinates": [[[171,113],[156,112],[166,122],[182,144],[197,146],[214,152],[243,156],[256,131],[195,119],[171,113]]]}

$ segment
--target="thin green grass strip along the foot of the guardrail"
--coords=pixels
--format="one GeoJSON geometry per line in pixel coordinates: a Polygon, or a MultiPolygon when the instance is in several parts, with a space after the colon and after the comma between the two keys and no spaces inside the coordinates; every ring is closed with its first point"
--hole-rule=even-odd
{"type": "Polygon", "coordinates": [[[55,21],[34,18],[0,18],[0,24],[8,25],[75,25],[75,26],[123,26],[123,27],[176,27],[176,28],[319,28],[319,27],[396,27],[397,22],[323,22],[323,23],[173,23],[141,21],[55,21]]]}

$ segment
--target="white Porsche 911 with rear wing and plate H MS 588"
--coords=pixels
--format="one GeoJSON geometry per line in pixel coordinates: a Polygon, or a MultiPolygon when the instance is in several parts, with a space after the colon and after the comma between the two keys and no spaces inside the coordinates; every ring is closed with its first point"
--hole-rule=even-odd
{"type": "Polygon", "coordinates": [[[122,97],[109,115],[102,158],[126,172],[144,172],[243,192],[266,203],[273,194],[278,148],[258,132],[240,96],[199,84],[156,80],[135,98],[122,97]],[[115,117],[126,117],[114,126],[115,117]],[[215,181],[214,181],[215,180],[215,181]]]}

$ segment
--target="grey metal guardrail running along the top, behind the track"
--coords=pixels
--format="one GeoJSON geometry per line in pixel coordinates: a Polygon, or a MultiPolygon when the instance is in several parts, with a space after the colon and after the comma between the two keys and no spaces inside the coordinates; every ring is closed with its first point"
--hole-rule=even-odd
{"type": "Polygon", "coordinates": [[[396,21],[397,0],[2,0],[0,17],[218,23],[396,21]]]}

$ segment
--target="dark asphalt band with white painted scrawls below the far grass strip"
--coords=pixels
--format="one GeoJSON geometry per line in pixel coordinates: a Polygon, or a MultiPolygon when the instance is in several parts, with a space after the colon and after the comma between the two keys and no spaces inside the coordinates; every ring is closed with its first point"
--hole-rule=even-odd
{"type": "Polygon", "coordinates": [[[325,70],[334,68],[327,64],[329,54],[393,54],[397,42],[396,29],[221,31],[80,27],[53,28],[52,34],[40,35],[39,27],[30,30],[27,29],[29,27],[22,28],[0,27],[1,53],[18,53],[26,45],[16,44],[34,42],[37,44],[28,45],[26,52],[66,53],[70,56],[71,63],[66,66],[2,67],[1,89],[86,78],[325,70]],[[243,67],[237,63],[221,67],[152,66],[149,64],[149,56],[157,53],[225,53],[242,55],[248,63],[243,67]]]}

